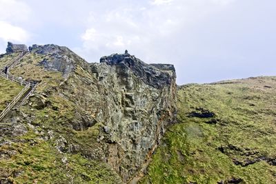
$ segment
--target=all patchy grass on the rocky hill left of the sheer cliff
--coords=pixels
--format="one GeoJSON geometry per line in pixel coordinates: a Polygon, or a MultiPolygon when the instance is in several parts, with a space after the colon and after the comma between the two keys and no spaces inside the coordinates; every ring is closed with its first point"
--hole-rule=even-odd
{"type": "MultiPolygon", "coordinates": [[[[29,128],[28,133],[23,136],[11,138],[6,135],[0,138],[1,142],[10,139],[13,142],[0,147],[0,155],[4,156],[3,159],[0,158],[0,183],[7,175],[8,180],[14,183],[121,183],[119,175],[107,163],[88,155],[97,154],[97,150],[100,150],[97,136],[102,124],[97,123],[82,131],[72,128],[72,124],[78,121],[76,114],[79,114],[79,117],[86,114],[65,95],[61,95],[63,89],[58,87],[65,80],[61,72],[44,70],[38,65],[47,58],[45,55],[28,53],[21,63],[10,71],[26,80],[41,81],[35,91],[36,96],[30,97],[29,103],[36,103],[39,101],[36,98],[40,96],[47,105],[39,109],[24,105],[20,109],[32,116],[31,121],[23,119],[21,123],[26,127],[29,127],[27,123],[32,124],[35,131],[29,128]],[[48,141],[41,139],[48,135],[49,130],[55,136],[48,141]],[[67,141],[62,153],[57,150],[60,136],[67,141]],[[65,158],[67,161],[64,163],[65,158]]],[[[4,82],[7,81],[2,82],[0,78],[0,94],[6,94],[2,95],[6,103],[10,98],[8,96],[14,96],[10,91],[13,88],[15,90],[15,86],[13,83],[7,83],[8,88],[2,88],[4,82]]]]}

